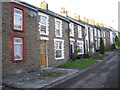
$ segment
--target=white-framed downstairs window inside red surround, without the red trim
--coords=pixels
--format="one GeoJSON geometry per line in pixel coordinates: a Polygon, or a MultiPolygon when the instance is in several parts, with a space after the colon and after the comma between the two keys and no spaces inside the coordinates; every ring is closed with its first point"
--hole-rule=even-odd
{"type": "Polygon", "coordinates": [[[23,39],[14,38],[14,60],[23,59],[23,39]]]}

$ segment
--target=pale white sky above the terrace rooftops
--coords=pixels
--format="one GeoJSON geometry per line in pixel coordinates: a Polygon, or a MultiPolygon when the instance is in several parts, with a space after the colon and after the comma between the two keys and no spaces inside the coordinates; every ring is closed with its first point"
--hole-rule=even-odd
{"type": "MultiPolygon", "coordinates": [[[[37,7],[43,0],[22,0],[37,7]]],[[[104,23],[118,29],[118,2],[120,0],[44,0],[48,9],[59,14],[60,8],[65,7],[68,15],[79,14],[81,19],[87,17],[95,22],[104,23]]]]}

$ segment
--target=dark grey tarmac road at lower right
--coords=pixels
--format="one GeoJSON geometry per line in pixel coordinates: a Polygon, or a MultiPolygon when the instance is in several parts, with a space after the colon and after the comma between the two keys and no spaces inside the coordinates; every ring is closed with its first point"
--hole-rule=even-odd
{"type": "Polygon", "coordinates": [[[118,88],[119,55],[50,88],[118,88]]]}

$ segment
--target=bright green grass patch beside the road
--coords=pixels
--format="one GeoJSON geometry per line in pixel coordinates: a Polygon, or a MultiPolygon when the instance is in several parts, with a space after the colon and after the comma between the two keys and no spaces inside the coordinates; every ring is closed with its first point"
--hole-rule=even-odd
{"type": "Polygon", "coordinates": [[[73,69],[81,69],[86,68],[88,66],[91,66],[92,64],[95,64],[97,60],[76,60],[67,62],[65,64],[61,64],[57,66],[57,68],[73,68],[73,69]]]}

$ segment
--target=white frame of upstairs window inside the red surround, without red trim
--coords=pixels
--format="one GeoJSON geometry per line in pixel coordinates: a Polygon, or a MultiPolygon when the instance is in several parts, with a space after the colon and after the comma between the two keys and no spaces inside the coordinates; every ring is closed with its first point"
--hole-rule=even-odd
{"type": "Polygon", "coordinates": [[[14,26],[14,29],[15,29],[15,30],[20,30],[20,31],[23,30],[23,10],[21,10],[21,9],[19,9],[19,8],[14,8],[14,25],[13,25],[13,26],[14,26]],[[22,11],[22,14],[16,13],[16,12],[15,12],[15,9],[18,10],[18,11],[22,11]],[[18,17],[21,17],[21,19],[22,19],[21,22],[20,22],[21,28],[16,28],[16,27],[15,27],[15,25],[16,25],[15,22],[18,22],[18,21],[16,21],[15,16],[17,16],[17,19],[18,19],[18,17]]]}

